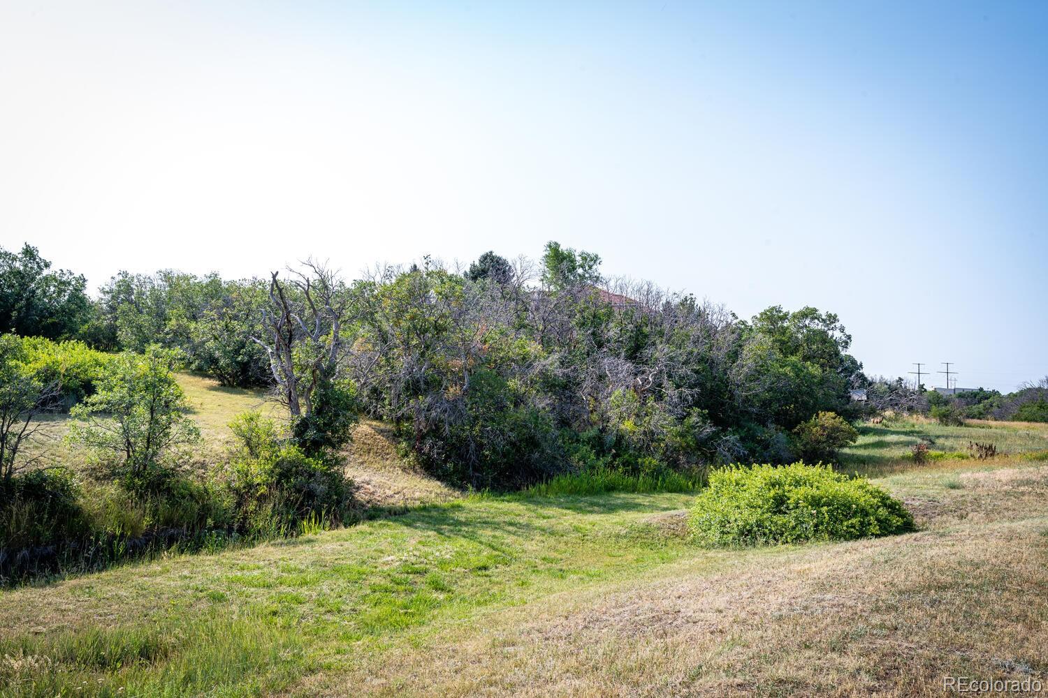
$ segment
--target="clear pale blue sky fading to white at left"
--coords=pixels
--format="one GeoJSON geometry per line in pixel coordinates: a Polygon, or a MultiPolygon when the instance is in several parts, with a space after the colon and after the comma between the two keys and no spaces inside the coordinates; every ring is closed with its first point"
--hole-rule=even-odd
{"type": "Polygon", "coordinates": [[[1048,374],[1045,37],[1040,2],[6,2],[0,246],[93,289],[556,240],[1013,389],[1048,374]]]}

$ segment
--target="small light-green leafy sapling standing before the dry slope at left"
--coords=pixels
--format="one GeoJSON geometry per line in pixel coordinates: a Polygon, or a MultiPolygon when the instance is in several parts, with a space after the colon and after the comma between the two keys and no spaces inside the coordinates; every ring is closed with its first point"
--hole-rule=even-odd
{"type": "Polygon", "coordinates": [[[70,426],[68,438],[94,451],[131,490],[162,485],[163,456],[200,438],[173,373],[180,360],[178,352],[158,346],[143,356],[122,354],[94,395],[71,410],[79,423],[70,426]]]}

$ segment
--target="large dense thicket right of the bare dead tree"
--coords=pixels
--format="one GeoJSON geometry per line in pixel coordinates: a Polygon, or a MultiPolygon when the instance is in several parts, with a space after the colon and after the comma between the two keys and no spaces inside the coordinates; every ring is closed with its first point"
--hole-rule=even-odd
{"type": "Polygon", "coordinates": [[[281,294],[312,308],[310,288],[337,286],[337,310],[312,308],[310,322],[284,329],[339,356],[325,370],[342,404],[395,424],[406,451],[459,485],[785,461],[798,428],[847,411],[861,380],[831,313],[771,308],[740,321],[691,295],[606,279],[596,254],[555,243],[538,265],[489,252],[461,273],[428,258],[353,283],[325,273],[283,287],[275,276],[269,317],[288,305],[281,294]]]}

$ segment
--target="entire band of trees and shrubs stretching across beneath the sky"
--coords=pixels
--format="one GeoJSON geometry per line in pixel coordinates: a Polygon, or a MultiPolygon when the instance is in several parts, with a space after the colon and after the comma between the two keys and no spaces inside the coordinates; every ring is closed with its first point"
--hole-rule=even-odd
{"type": "Polygon", "coordinates": [[[350,520],[344,447],[365,414],[437,477],[493,490],[833,460],[857,437],[849,422],[888,410],[1048,419],[1044,383],[944,398],[869,379],[832,313],[740,319],[609,279],[597,254],[556,243],[537,262],[424,257],[357,279],[312,262],[242,280],[119,272],[95,298],[27,245],[0,250],[0,580],[350,520]],[[284,419],[241,414],[224,455],[187,467],[184,368],[268,387],[284,419]],[[44,451],[26,446],[48,411],[70,412],[91,478],[37,467],[44,451]]]}

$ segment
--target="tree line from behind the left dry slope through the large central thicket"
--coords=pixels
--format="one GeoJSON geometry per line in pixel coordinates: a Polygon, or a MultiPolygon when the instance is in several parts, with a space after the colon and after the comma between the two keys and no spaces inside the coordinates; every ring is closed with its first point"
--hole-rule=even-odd
{"type": "MultiPolygon", "coordinates": [[[[345,430],[337,413],[387,420],[427,468],[478,488],[572,466],[786,461],[802,424],[848,411],[861,364],[832,313],[740,320],[599,264],[550,243],[538,263],[488,252],[465,269],[424,258],[356,280],[318,265],[236,282],[121,272],[78,327],[50,332],[177,348],[223,384],[274,385],[302,440],[345,430]]],[[[60,276],[83,294],[81,277],[60,276]]]]}

